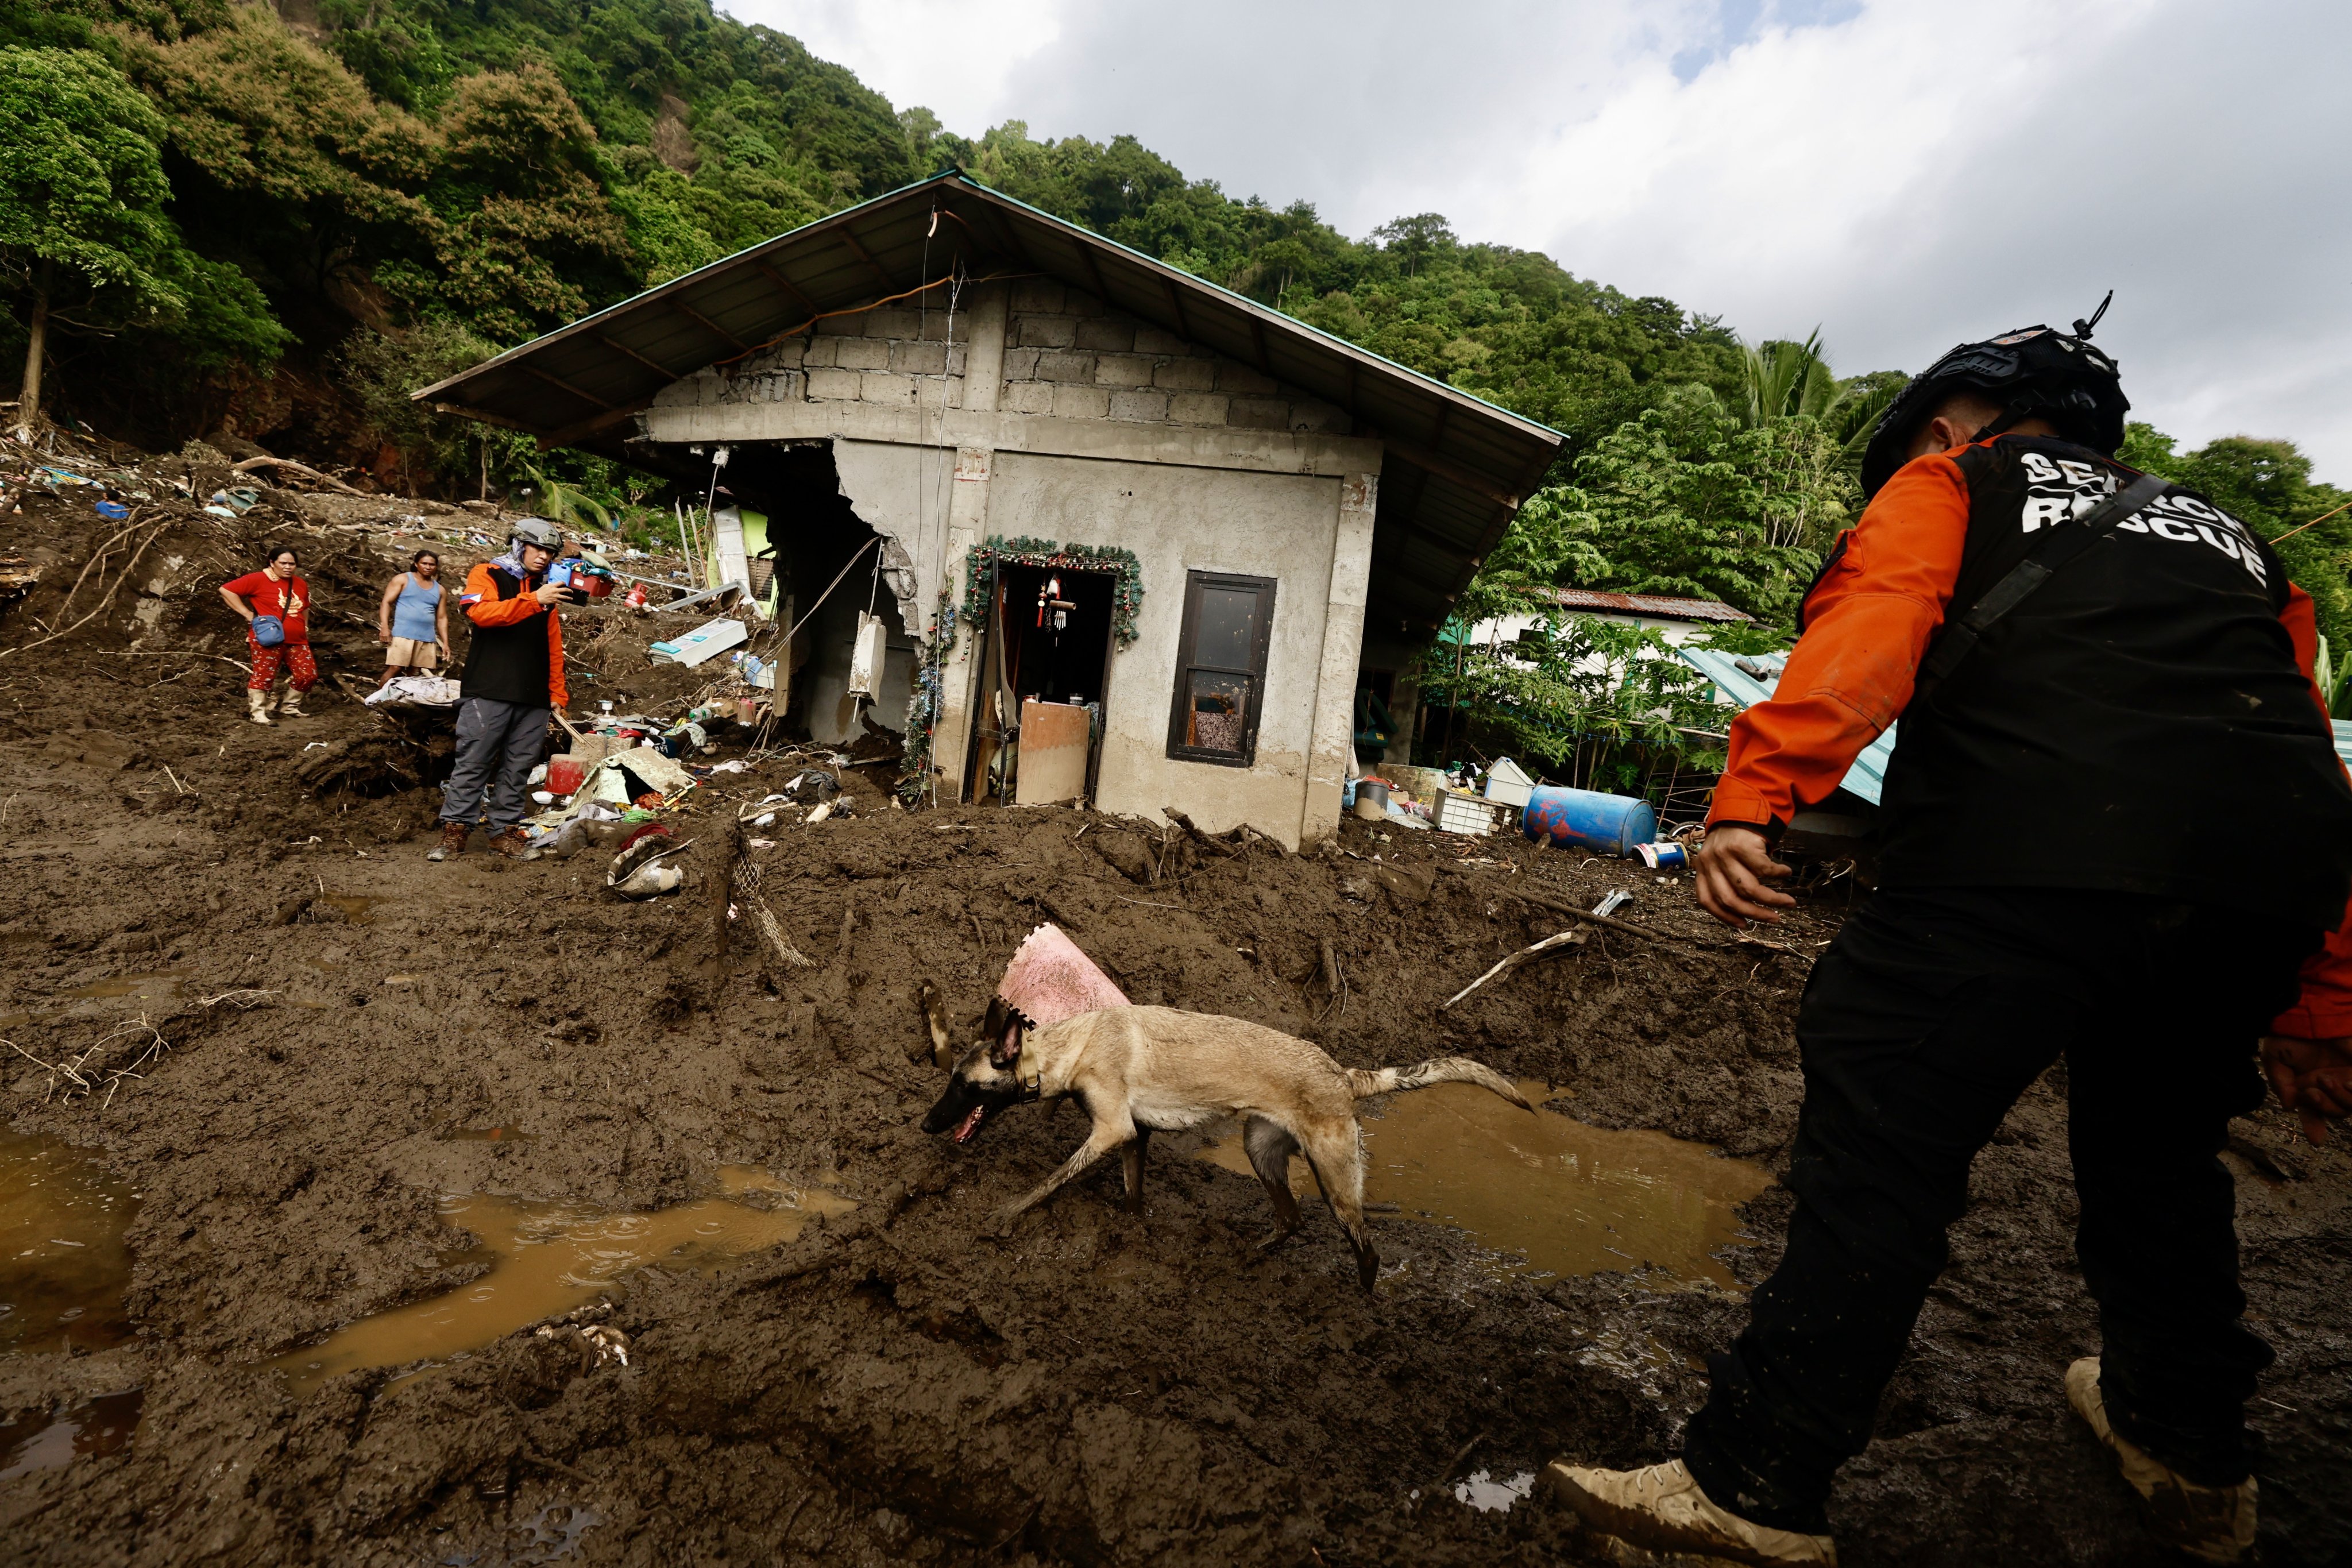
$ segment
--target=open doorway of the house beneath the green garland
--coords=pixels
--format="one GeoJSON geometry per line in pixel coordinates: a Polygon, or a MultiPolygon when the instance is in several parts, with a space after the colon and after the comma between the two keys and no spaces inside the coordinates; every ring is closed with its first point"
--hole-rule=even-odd
{"type": "Polygon", "coordinates": [[[1094,797],[1115,585],[1110,571],[997,564],[978,628],[964,799],[1042,806],[1094,797]]]}

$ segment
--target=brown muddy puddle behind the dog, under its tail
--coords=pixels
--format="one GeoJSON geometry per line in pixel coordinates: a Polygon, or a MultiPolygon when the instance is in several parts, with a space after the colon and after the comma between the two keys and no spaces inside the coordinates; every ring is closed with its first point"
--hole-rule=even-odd
{"type": "MultiPolygon", "coordinates": [[[[1536,1081],[1519,1091],[1538,1107],[1550,1093],[1536,1081]]],[[[1710,1145],[1524,1112],[1470,1084],[1390,1095],[1364,1117],[1364,1157],[1367,1201],[1468,1229],[1505,1253],[1505,1269],[1661,1269],[1722,1288],[1738,1281],[1710,1253],[1750,1246],[1733,1208],[1773,1185],[1764,1166],[1710,1145]]],[[[1240,1131],[1202,1159],[1249,1175],[1240,1131]]],[[[1317,1192],[1303,1159],[1291,1161],[1291,1190],[1317,1192]]]]}

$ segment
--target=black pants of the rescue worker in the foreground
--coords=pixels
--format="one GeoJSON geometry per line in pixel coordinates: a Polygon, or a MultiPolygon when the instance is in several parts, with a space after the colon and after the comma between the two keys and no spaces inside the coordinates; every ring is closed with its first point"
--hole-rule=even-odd
{"type": "MultiPolygon", "coordinates": [[[[1722,1507],[1823,1533],[1837,1467],[1945,1265],[1969,1161],[2060,1056],[2117,1432],[2192,1481],[2249,1474],[2244,1403],[2270,1347],[2239,1316],[2237,1194],[2218,1154],[2260,1105],[2256,1041],[2321,933],[2232,910],[2063,889],[1879,891],[1797,1013],[1804,1110],[1788,1253],[1710,1359],[1684,1460],[1722,1507]]],[[[2051,1366],[2051,1399],[2063,1399],[2051,1366]]]]}

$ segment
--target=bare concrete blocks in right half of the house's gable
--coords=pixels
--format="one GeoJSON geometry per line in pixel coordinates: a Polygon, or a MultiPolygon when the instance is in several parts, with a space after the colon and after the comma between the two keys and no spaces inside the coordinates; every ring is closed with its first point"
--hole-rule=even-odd
{"type": "Polygon", "coordinates": [[[1011,284],[1004,409],[1352,435],[1348,414],[1047,277],[1011,284]]]}

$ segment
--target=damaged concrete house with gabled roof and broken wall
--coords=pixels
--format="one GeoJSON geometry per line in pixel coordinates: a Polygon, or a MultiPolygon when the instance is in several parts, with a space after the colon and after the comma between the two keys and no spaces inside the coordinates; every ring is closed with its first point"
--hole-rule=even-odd
{"type": "Polygon", "coordinates": [[[818,741],[1289,846],[1562,444],[953,172],[419,397],[722,484],[818,741]]]}

